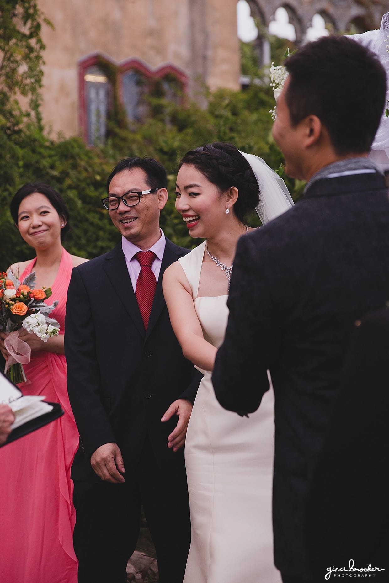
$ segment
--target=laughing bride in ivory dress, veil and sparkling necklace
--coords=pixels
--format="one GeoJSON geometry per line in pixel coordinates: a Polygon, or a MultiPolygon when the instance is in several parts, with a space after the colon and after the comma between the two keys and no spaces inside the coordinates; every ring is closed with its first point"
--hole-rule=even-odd
{"type": "Polygon", "coordinates": [[[163,276],[178,342],[204,373],[185,442],[191,547],[184,583],[276,583],[281,576],[272,549],[274,394],[268,391],[249,419],[239,417],[216,401],[211,372],[227,325],[236,244],[253,230],[245,216],[256,208],[264,223],[293,201],[263,160],[218,142],[185,154],[176,197],[190,235],[205,239],[163,276]]]}

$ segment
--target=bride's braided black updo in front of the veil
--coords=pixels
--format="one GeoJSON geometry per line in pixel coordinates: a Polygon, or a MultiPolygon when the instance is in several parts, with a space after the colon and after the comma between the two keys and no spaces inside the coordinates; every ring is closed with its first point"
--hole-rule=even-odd
{"type": "Polygon", "coordinates": [[[197,168],[220,192],[236,187],[239,196],[233,210],[242,223],[260,202],[260,187],[253,169],[233,144],[213,142],[190,150],[181,160],[180,168],[183,164],[197,168]]]}

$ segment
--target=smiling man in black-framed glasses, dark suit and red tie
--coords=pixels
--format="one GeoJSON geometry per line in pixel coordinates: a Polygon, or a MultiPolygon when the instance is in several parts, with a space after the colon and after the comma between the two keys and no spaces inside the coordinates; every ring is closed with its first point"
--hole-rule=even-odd
{"type": "Polygon", "coordinates": [[[183,581],[190,546],[183,445],[202,375],[183,357],[162,294],[164,269],[188,252],[159,227],[166,187],[152,158],[117,164],[102,202],[121,242],[73,269],[69,285],[79,583],[127,581],[142,505],[160,583],[183,581]]]}

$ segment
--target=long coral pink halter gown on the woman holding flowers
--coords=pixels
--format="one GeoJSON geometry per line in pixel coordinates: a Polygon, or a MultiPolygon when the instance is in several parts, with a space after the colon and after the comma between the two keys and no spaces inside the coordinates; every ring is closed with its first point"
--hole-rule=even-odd
{"type": "MultiPolygon", "coordinates": [[[[21,281],[33,271],[27,265],[21,281]]],[[[65,332],[66,292],[72,258],[65,249],[47,303],[65,332]]],[[[41,350],[24,365],[30,384],[24,395],[44,395],[61,403],[64,415],[0,449],[0,581],[1,583],[76,583],[77,559],[72,533],[75,510],[70,469],[78,448],[78,431],[66,390],[64,354],[41,350]]]]}

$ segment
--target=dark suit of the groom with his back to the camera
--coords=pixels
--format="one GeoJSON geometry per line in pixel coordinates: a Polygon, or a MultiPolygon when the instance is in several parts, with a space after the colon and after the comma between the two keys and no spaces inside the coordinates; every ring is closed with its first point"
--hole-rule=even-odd
{"type": "Polygon", "coordinates": [[[223,407],[275,391],[273,524],[279,570],[307,574],[304,501],[356,319],[389,299],[389,202],[381,174],[314,182],[240,239],[225,342],[212,375],[223,407]]]}

